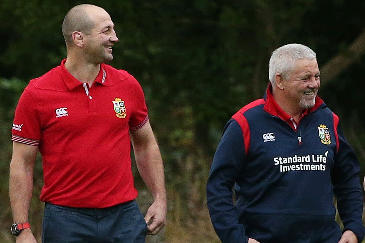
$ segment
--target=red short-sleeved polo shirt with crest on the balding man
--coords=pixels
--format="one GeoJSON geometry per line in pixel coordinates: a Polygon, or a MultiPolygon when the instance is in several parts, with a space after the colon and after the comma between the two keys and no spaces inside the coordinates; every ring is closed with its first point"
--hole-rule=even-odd
{"type": "Polygon", "coordinates": [[[133,200],[128,132],[148,120],[142,88],[106,64],[89,88],[66,70],[65,60],[32,79],[15,110],[12,140],[39,146],[42,154],[40,198],[82,208],[133,200]]]}

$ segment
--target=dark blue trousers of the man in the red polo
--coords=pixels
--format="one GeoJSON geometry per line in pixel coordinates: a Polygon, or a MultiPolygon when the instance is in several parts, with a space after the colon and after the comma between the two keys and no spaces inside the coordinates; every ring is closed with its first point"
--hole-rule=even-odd
{"type": "Polygon", "coordinates": [[[145,243],[147,224],[135,200],[109,208],[45,204],[43,243],[145,243]]]}

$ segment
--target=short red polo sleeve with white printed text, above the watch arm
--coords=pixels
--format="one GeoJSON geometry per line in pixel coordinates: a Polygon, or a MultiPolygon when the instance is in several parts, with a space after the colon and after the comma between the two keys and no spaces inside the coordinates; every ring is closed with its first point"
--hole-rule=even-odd
{"type": "Polygon", "coordinates": [[[37,103],[26,88],[15,109],[11,140],[38,146],[41,140],[40,121],[37,103]]]}

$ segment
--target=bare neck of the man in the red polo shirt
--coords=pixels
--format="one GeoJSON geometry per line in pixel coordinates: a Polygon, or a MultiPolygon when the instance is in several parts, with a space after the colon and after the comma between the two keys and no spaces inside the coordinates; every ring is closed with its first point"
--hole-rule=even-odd
{"type": "Polygon", "coordinates": [[[91,87],[99,74],[100,64],[88,63],[85,60],[80,60],[80,58],[74,58],[72,55],[67,55],[65,68],[78,81],[88,83],[89,87],[91,87]]]}

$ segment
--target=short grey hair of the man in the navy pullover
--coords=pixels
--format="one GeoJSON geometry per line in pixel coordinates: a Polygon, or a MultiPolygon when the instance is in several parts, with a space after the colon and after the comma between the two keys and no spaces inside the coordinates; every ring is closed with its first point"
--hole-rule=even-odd
{"type": "Polygon", "coordinates": [[[316,58],[316,53],[309,47],[302,44],[287,44],[277,48],[270,57],[269,62],[269,80],[275,83],[275,75],[281,74],[281,77],[288,79],[293,71],[295,61],[298,59],[316,58]]]}

